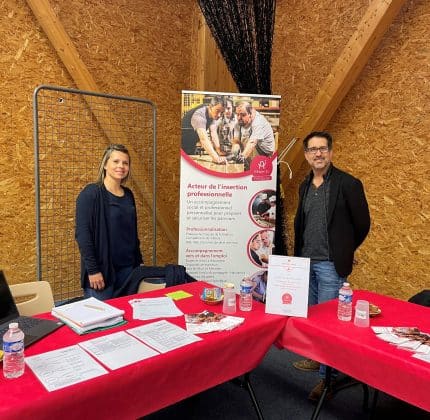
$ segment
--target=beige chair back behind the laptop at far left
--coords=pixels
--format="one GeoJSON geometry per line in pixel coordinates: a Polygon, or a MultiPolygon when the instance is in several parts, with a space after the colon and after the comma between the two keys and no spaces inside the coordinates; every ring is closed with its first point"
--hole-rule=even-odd
{"type": "Polygon", "coordinates": [[[50,312],[55,306],[51,285],[47,281],[9,285],[20,315],[32,316],[50,312]]]}

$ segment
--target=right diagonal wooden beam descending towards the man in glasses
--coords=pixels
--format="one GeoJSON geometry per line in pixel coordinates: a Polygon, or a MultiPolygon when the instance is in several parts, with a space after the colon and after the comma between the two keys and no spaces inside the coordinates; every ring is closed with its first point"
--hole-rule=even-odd
{"type": "MultiPolygon", "coordinates": [[[[349,39],[297,130],[296,143],[283,158],[293,176],[304,162],[301,139],[314,130],[323,130],[345,98],[383,35],[406,0],[373,0],[349,39]]],[[[285,173],[282,183],[287,181],[285,173]]]]}

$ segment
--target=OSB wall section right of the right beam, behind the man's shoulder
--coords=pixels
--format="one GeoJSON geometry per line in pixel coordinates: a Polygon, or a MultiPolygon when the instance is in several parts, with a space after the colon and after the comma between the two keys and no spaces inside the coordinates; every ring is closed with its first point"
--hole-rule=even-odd
{"type": "Polygon", "coordinates": [[[353,281],[401,298],[430,287],[429,17],[408,2],[329,127],[372,214],[353,281]]]}

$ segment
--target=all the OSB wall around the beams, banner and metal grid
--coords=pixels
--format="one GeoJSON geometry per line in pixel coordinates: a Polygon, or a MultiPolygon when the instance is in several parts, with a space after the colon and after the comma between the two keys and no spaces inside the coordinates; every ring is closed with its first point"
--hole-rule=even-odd
{"type": "MultiPolygon", "coordinates": [[[[158,107],[158,204],[178,222],[180,91],[195,89],[191,58],[194,0],[52,0],[100,91],[152,100],[158,107]]],[[[273,93],[283,97],[281,147],[357,23],[368,0],[278,0],[273,93]]],[[[76,87],[24,0],[5,0],[0,16],[0,267],[11,282],[35,276],[31,95],[42,83],[76,87]]],[[[372,231],[357,253],[356,287],[400,298],[430,287],[428,118],[430,3],[407,1],[360,79],[335,113],[335,163],[360,177],[372,231]],[[427,72],[427,73],[426,73],[427,72]],[[427,176],[426,176],[427,175],[427,176]]],[[[202,88],[210,90],[211,86],[202,88]]],[[[220,81],[219,90],[223,90],[220,81]]],[[[300,173],[286,186],[289,232],[300,173]]],[[[290,243],[290,247],[291,247],[290,243]]],[[[160,264],[176,262],[161,235],[160,264]]]]}

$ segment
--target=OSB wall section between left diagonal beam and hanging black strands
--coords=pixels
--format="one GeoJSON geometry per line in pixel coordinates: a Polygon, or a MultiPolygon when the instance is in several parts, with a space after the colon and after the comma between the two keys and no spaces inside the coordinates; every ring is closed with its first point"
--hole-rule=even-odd
{"type": "MultiPolygon", "coordinates": [[[[52,1],[81,59],[108,93],[148,98],[158,108],[159,209],[177,226],[180,91],[188,88],[192,2],[52,1]],[[160,13],[160,11],[166,11],[160,13]],[[168,11],[168,12],[167,12],[168,11]]],[[[170,222],[170,221],[169,221],[170,222]]],[[[176,262],[177,248],[159,229],[158,263],[176,262]]]]}

